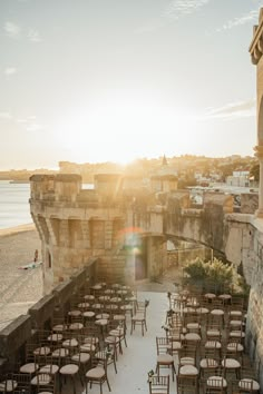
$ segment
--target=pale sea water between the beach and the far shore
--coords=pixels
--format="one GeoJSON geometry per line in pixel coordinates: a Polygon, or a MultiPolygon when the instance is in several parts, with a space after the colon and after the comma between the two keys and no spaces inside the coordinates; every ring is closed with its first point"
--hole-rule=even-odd
{"type": "Polygon", "coordinates": [[[29,197],[30,184],[0,180],[0,229],[32,223],[29,197]]]}

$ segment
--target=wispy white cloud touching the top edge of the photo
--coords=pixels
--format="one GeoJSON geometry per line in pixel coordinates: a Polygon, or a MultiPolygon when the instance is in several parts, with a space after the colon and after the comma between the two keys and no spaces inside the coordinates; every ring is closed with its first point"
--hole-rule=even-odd
{"type": "Polygon", "coordinates": [[[210,0],[173,0],[166,8],[165,16],[178,19],[182,16],[195,12],[208,2],[210,0]]]}

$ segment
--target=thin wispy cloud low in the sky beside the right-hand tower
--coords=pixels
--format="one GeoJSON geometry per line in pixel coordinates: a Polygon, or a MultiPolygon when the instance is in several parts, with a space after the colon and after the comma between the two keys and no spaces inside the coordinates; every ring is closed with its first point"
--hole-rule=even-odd
{"type": "Polygon", "coordinates": [[[220,108],[210,108],[204,119],[211,118],[244,118],[255,116],[255,99],[246,101],[230,102],[220,108]]]}

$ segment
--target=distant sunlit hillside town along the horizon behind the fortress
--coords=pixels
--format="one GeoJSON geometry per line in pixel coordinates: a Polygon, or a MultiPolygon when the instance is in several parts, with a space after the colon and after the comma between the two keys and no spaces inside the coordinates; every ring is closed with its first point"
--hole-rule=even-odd
{"type": "Polygon", "coordinates": [[[177,176],[178,188],[188,186],[210,187],[215,183],[224,183],[233,187],[259,186],[259,160],[255,157],[232,155],[224,158],[183,155],[179,157],[142,158],[129,165],[115,162],[77,164],[59,161],[58,170],[40,168],[35,170],[10,169],[0,170],[0,180],[27,183],[35,174],[79,174],[82,183],[92,184],[96,174],[118,173],[127,176],[152,177],[156,174],[177,176]]]}

